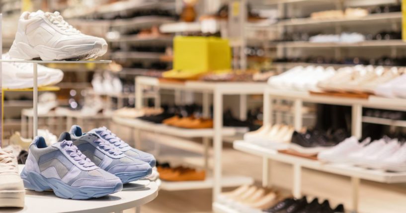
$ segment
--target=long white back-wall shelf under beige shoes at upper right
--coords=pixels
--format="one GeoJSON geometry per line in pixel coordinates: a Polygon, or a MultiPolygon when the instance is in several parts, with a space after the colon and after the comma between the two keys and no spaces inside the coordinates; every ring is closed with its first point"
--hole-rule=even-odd
{"type": "Polygon", "coordinates": [[[333,24],[333,23],[342,23],[342,24],[364,24],[367,21],[388,21],[391,19],[402,20],[402,12],[389,12],[389,13],[377,13],[369,14],[364,17],[350,17],[350,18],[330,18],[330,19],[313,19],[313,18],[292,18],[288,20],[282,20],[274,24],[276,26],[296,26],[296,25],[320,25],[320,24],[333,24]]]}

